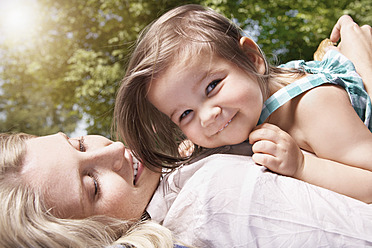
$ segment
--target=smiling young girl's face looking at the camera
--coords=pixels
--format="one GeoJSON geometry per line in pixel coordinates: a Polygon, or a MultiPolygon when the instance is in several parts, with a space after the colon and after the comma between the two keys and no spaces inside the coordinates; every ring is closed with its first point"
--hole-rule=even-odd
{"type": "Polygon", "coordinates": [[[197,145],[214,148],[246,140],[263,105],[257,80],[218,56],[202,54],[187,63],[173,63],[156,77],[149,101],[197,145]]]}

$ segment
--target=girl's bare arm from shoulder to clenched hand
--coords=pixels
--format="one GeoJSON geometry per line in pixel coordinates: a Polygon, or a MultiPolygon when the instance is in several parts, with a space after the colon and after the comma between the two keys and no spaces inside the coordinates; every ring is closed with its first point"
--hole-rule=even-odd
{"type": "Polygon", "coordinates": [[[265,123],[250,134],[253,160],[279,174],[372,203],[372,134],[347,93],[328,85],[297,101],[289,133],[265,123]],[[298,144],[318,157],[303,155],[298,144]]]}

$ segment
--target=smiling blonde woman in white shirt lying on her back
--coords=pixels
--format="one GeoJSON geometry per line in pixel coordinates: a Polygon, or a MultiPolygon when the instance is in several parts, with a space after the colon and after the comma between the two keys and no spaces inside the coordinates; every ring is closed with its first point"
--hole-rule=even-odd
{"type": "MultiPolygon", "coordinates": [[[[345,24],[341,27],[342,34],[347,29],[345,24]]],[[[271,247],[279,241],[309,247],[372,245],[372,210],[367,204],[264,171],[248,156],[213,155],[184,166],[162,180],[154,194],[160,174],[135,165],[119,142],[63,134],[2,135],[0,140],[2,247],[172,246],[167,230],[148,228],[151,222],[133,224],[146,208],[188,245],[271,247]],[[232,183],[234,187],[216,191],[209,182],[226,185],[223,190],[232,183]],[[233,197],[230,193],[239,188],[247,191],[233,197]],[[319,200],[323,204],[318,205],[319,200]],[[218,206],[200,208],[208,202],[218,206]],[[234,206],[245,211],[242,220],[248,222],[239,220],[241,212],[230,212],[234,206]],[[291,218],[284,219],[288,214],[291,218]],[[299,232],[302,225],[311,229],[299,232]]],[[[237,153],[242,146],[226,149],[237,153]]]]}

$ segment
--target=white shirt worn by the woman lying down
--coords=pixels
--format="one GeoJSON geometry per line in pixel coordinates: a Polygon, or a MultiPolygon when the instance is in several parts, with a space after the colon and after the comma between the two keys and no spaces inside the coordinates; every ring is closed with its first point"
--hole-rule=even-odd
{"type": "Polygon", "coordinates": [[[216,154],[166,176],[147,211],[195,247],[372,246],[372,206],[216,154]]]}

